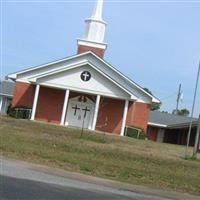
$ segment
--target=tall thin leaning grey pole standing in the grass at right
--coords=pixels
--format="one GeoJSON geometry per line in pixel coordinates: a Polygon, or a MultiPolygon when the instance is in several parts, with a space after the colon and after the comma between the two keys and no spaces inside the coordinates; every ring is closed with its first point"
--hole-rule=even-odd
{"type": "Polygon", "coordinates": [[[188,156],[188,147],[189,147],[189,143],[190,143],[190,135],[191,135],[191,130],[192,130],[192,121],[193,121],[194,107],[195,107],[196,96],[197,96],[197,88],[198,88],[198,83],[199,83],[199,74],[200,74],[200,62],[199,62],[199,68],[198,68],[198,72],[197,72],[196,85],[195,85],[195,90],[194,90],[192,112],[191,112],[191,117],[190,117],[190,127],[189,127],[189,130],[188,130],[187,144],[186,144],[186,149],[185,149],[185,158],[188,156]]]}

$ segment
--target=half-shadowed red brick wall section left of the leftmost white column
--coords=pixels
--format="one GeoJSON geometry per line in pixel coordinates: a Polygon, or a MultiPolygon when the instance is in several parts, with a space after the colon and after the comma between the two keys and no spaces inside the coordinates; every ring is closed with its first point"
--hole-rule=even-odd
{"type": "Polygon", "coordinates": [[[12,107],[32,108],[35,95],[35,85],[16,82],[12,100],[12,107]]]}

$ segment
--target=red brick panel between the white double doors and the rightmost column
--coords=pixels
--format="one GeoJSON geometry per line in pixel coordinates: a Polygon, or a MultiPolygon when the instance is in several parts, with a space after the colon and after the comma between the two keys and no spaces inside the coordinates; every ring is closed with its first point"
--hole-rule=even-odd
{"type": "Polygon", "coordinates": [[[102,98],[100,101],[96,130],[120,134],[124,112],[123,100],[102,98]],[[107,121],[107,125],[106,124],[107,121]]]}

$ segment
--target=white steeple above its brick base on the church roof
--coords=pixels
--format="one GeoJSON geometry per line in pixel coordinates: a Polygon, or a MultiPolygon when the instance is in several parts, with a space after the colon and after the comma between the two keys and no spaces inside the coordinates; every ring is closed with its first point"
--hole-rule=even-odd
{"type": "Polygon", "coordinates": [[[103,0],[97,0],[91,18],[86,19],[86,31],[83,39],[78,40],[78,45],[106,49],[104,36],[106,23],[102,19],[103,0]]]}

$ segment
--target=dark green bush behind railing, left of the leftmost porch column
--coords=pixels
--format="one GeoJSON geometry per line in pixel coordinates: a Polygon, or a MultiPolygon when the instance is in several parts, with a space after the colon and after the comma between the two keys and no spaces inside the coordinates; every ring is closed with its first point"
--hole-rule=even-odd
{"type": "Polygon", "coordinates": [[[30,119],[31,109],[26,107],[11,107],[8,110],[8,115],[18,119],[30,119]]]}

